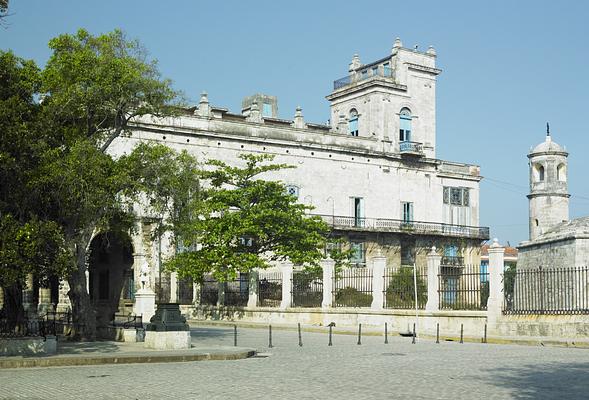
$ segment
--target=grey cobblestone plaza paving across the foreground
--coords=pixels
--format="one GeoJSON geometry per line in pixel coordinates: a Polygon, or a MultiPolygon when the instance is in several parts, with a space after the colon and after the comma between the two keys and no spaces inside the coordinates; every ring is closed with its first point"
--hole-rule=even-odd
{"type": "MultiPolygon", "coordinates": [[[[199,346],[233,330],[193,329],[199,346]]],[[[0,399],[586,399],[589,350],[239,329],[238,361],[0,370],[0,399]],[[267,357],[264,355],[267,354],[267,357]]]]}

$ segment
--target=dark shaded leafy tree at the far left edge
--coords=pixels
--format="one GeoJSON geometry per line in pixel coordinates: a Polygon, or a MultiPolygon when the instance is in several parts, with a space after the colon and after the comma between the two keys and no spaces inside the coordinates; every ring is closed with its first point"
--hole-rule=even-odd
{"type": "Polygon", "coordinates": [[[24,318],[29,275],[62,277],[71,267],[63,231],[41,212],[44,196],[32,183],[46,148],[34,101],[39,73],[34,62],[0,51],[0,286],[12,321],[24,318]]]}

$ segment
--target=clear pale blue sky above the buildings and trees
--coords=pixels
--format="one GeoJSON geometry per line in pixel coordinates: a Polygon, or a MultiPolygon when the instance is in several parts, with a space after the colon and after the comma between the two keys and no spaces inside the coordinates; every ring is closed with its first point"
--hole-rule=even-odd
{"type": "Polygon", "coordinates": [[[433,45],[437,158],[481,166],[480,224],[517,245],[528,238],[527,153],[552,138],[570,152],[571,218],[589,215],[589,2],[10,0],[0,49],[43,66],[47,42],[85,28],[122,29],[196,103],[241,111],[243,97],[278,97],[279,117],[325,123],[335,79],[352,55],[370,62],[433,45]]]}

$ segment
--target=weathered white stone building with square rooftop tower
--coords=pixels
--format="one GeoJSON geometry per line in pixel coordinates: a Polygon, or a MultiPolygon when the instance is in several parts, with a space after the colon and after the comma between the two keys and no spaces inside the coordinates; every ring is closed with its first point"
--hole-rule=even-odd
{"type": "MultiPolygon", "coordinates": [[[[272,154],[275,162],[296,168],[265,178],[284,182],[289,193],[313,206],[312,213],[331,225],[332,234],[354,249],[357,266],[377,254],[389,265],[425,265],[433,246],[453,266],[478,265],[481,242],[489,238],[488,228],[479,227],[482,177],[476,165],[436,158],[440,73],[432,47],[418,52],[397,39],[378,61],[362,64],[353,57],[348,74],[327,96],[330,124],[305,121],[301,108],[292,120],[278,118],[273,96],[247,97],[242,112],[233,113],[211,105],[203,93],[182,115],[137,119],[132,134],[115,140],[110,152],[118,156],[152,141],[187,150],[202,162],[239,164],[241,153],[272,154]]],[[[119,301],[125,290],[165,286],[160,295],[174,301],[178,290],[186,289],[179,289],[173,274],[159,273],[161,259],[175,251],[169,238],[152,240],[161,216],[140,206],[137,212],[138,233],[119,246],[129,249],[133,262],[113,264],[124,271],[110,274],[102,266],[89,267],[91,293],[102,291],[119,309],[133,306],[119,301]],[[146,274],[140,272],[144,265],[146,274]],[[114,281],[121,277],[128,282],[114,281]]],[[[142,312],[141,307],[135,302],[134,311],[142,312]]]]}

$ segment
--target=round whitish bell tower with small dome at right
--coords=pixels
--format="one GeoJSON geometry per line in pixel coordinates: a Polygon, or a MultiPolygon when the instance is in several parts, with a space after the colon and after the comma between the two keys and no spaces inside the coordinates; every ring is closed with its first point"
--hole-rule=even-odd
{"type": "Polygon", "coordinates": [[[567,157],[569,153],[552,141],[546,124],[546,139],[528,154],[530,166],[530,240],[569,220],[567,157]]]}

